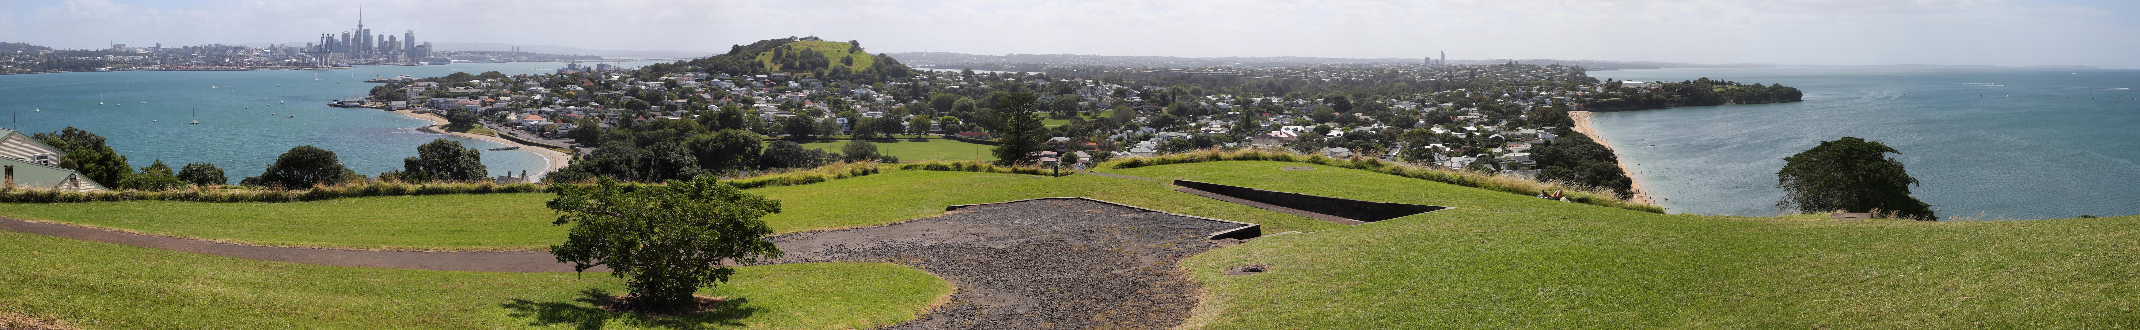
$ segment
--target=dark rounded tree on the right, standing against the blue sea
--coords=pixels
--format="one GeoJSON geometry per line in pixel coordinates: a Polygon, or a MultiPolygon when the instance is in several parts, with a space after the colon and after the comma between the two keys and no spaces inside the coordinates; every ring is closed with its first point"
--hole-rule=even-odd
{"type": "Polygon", "coordinates": [[[1851,213],[1879,209],[1902,217],[1937,219],[1930,204],[1909,196],[1909,185],[1915,185],[1917,179],[1902,170],[1902,162],[1885,158],[1887,153],[1902,151],[1879,141],[1843,136],[1783,158],[1776,187],[1783,187],[1785,196],[1776,200],[1776,207],[1851,213]]]}

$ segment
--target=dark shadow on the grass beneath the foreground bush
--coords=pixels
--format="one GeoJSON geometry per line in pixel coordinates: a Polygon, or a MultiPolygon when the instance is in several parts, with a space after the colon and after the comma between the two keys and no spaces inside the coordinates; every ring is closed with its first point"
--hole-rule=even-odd
{"type": "Polygon", "coordinates": [[[743,317],[751,317],[764,309],[747,307],[749,298],[730,298],[715,307],[713,311],[700,311],[691,315],[642,315],[642,313],[618,313],[608,311],[597,304],[608,302],[614,294],[603,290],[580,292],[580,298],[571,302],[535,302],[516,298],[499,307],[511,309],[509,317],[529,319],[529,326],[556,326],[569,324],[576,330],[599,330],[610,321],[625,326],[655,326],[655,328],[678,328],[678,330],[702,330],[719,326],[743,326],[743,317]]]}

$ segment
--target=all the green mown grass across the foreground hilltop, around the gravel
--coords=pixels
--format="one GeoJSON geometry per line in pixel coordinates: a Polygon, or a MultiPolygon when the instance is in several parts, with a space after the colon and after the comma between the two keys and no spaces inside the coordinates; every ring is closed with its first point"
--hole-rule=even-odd
{"type": "MultiPolygon", "coordinates": [[[[1209,292],[1203,328],[2136,328],[2140,217],[2037,221],[1832,221],[1703,217],[1554,202],[1425,179],[1299,162],[1198,162],[1031,177],[884,170],[813,185],[747,189],[785,202],[779,232],[892,224],[944,204],[1091,196],[1173,213],[1265,224],[1254,243],[1183,262],[1209,292]],[[1280,192],[1453,207],[1363,226],[1284,215],[1171,192],[1194,179],[1280,192]],[[1263,275],[1222,275],[1267,264],[1263,275]]],[[[0,215],[261,245],[398,249],[539,249],[563,241],[544,194],[394,196],[321,202],[0,204],[0,215]],[[274,215],[268,215],[274,213],[274,215]]],[[[323,309],[488,324],[514,319],[503,298],[559,302],[588,275],[477,275],[297,266],[0,232],[0,255],[32,273],[0,273],[0,311],[77,324],[255,324],[310,319],[323,309]],[[257,273],[257,275],[253,275],[257,273]],[[94,277],[83,277],[94,275],[94,277]],[[242,279],[238,279],[242,277],[242,279]],[[255,277],[289,279],[263,283],[255,277]],[[58,287],[58,290],[51,290],[58,287]],[[263,287],[300,290],[276,298],[263,287]],[[443,294],[443,296],[441,296],[443,294]],[[175,296],[216,304],[122,304],[175,296]],[[413,300],[415,307],[381,304],[413,300]],[[118,307],[98,307],[118,304],[118,307]],[[141,307],[146,304],[146,307],[141,307]],[[302,309],[280,309],[280,307],[302,309]],[[353,307],[342,307],[353,304],[353,307]],[[139,307],[139,311],[135,309],[139,307]],[[156,309],[150,309],[156,307],[156,309]],[[449,309],[447,309],[449,307],[449,309]],[[475,321],[469,321],[475,319],[475,321]]],[[[773,273],[777,268],[764,268],[773,273]]],[[[747,268],[745,275],[753,273],[747,268]]],[[[779,311],[867,309],[858,324],[897,321],[937,292],[912,268],[854,266],[785,285],[882,283],[875,298],[813,300],[779,311]],[[839,279],[835,279],[839,277],[839,279]],[[899,313],[890,313],[899,311],[899,313]]],[[[922,275],[927,277],[927,275],[922,275]]],[[[723,290],[770,283],[738,281],[723,290]]],[[[751,300],[790,292],[743,294],[751,300]]],[[[867,292],[845,292],[854,296],[867,292]]],[[[569,304],[569,302],[565,302],[569,304]]],[[[768,309],[740,321],[766,321],[768,309]]],[[[832,319],[839,313],[817,319],[832,319]]],[[[526,317],[518,319],[526,321],[526,317]]],[[[779,321],[768,321],[779,324],[779,321]]],[[[514,324],[505,324],[514,326],[514,324]]],[[[128,326],[118,326],[128,328],[128,326]]],[[[362,328],[342,321],[327,328],[362,328]]],[[[773,326],[805,328],[805,326],[773,326]]],[[[830,328],[830,326],[815,326],[830,328]]]]}

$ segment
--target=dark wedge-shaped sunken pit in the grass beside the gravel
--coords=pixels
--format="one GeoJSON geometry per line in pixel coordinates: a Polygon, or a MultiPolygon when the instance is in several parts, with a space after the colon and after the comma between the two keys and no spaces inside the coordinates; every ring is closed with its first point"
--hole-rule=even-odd
{"type": "Polygon", "coordinates": [[[1203,192],[1211,192],[1211,194],[1222,194],[1222,196],[1233,196],[1233,198],[1241,198],[1241,200],[1254,200],[1254,202],[1263,202],[1263,204],[1278,204],[1278,207],[1288,207],[1288,209],[1299,209],[1299,211],[1310,211],[1310,213],[1338,215],[1338,217],[1359,219],[1359,221],[1382,221],[1382,219],[1395,219],[1395,217],[1404,217],[1404,215],[1417,215],[1417,213],[1449,209],[1449,207],[1434,207],[1434,204],[1370,202],[1370,200],[1329,198],[1329,196],[1312,196],[1312,194],[1297,194],[1297,192],[1269,192],[1269,189],[1256,189],[1256,187],[1201,183],[1201,181],[1181,181],[1181,179],[1177,179],[1175,185],[1190,187],[1190,189],[1203,189],[1203,192]]]}

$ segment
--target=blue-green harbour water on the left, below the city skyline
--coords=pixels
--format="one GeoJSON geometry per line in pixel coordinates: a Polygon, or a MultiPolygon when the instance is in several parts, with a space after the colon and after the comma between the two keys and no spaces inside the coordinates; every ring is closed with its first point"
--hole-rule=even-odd
{"type": "MultiPolygon", "coordinates": [[[[636,62],[623,64],[640,66],[636,62]]],[[[345,166],[377,175],[400,170],[402,158],[415,155],[417,145],[454,136],[413,130],[430,126],[424,119],[377,109],[334,109],[325,106],[327,100],[364,96],[370,87],[383,85],[364,83],[372,77],[443,77],[486,70],[529,75],[554,72],[559,66],[563,64],[514,62],[334,70],[0,75],[0,128],[28,134],[73,126],[105,136],[135,168],[154,160],[173,168],[188,162],[210,162],[223,166],[231,183],[259,175],[276,155],[297,145],[330,149],[345,166]]],[[[475,149],[505,147],[473,138],[454,141],[475,149]]],[[[539,172],[544,162],[533,151],[484,151],[484,164],[492,175],[539,172]]]]}

